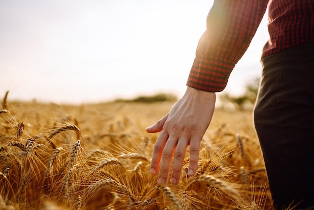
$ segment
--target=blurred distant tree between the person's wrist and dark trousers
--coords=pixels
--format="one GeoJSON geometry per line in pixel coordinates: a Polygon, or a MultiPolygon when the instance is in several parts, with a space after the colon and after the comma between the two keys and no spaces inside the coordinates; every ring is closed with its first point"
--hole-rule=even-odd
{"type": "Polygon", "coordinates": [[[245,85],[245,92],[243,95],[240,96],[231,96],[229,93],[224,93],[220,95],[220,99],[223,102],[230,102],[234,104],[237,110],[244,110],[244,105],[247,102],[251,104],[255,103],[258,87],[259,87],[259,80],[260,78],[255,78],[251,82],[245,85]]]}

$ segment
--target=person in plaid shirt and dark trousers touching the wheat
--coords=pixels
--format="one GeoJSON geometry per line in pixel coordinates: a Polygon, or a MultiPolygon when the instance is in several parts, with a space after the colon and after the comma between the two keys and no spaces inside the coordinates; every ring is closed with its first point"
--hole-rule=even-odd
{"type": "Polygon", "coordinates": [[[178,184],[190,145],[188,174],[198,167],[200,142],[235,64],[253,38],[268,5],[270,39],[262,51],[262,78],[254,124],[269,186],[278,209],[314,209],[314,1],[216,0],[207,17],[187,90],[169,114],[147,132],[161,134],[150,173],[178,184]]]}

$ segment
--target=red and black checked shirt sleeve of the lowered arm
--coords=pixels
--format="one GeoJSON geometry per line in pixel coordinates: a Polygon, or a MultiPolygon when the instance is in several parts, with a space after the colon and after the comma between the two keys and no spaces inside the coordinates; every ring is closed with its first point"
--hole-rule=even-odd
{"type": "Polygon", "coordinates": [[[219,92],[250,45],[268,0],[215,0],[199,40],[187,85],[219,92]]]}

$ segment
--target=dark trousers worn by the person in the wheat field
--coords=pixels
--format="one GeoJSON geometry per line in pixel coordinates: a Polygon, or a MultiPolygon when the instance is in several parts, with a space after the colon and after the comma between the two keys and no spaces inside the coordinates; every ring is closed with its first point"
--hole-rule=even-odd
{"type": "Polygon", "coordinates": [[[314,42],[267,56],[262,66],[254,124],[274,204],[314,206],[314,42]]]}

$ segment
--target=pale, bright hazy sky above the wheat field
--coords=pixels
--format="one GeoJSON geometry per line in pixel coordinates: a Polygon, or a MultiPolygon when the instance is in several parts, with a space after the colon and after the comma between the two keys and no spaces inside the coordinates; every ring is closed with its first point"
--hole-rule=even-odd
{"type": "MultiPolygon", "coordinates": [[[[0,2],[0,97],[89,103],[169,92],[181,97],[212,0],[0,2]]],[[[267,14],[266,14],[267,15],[267,14]]],[[[263,18],[224,92],[261,73],[263,18]]]]}

